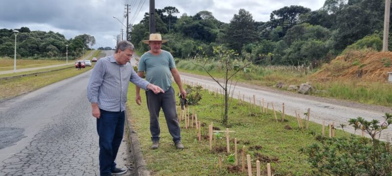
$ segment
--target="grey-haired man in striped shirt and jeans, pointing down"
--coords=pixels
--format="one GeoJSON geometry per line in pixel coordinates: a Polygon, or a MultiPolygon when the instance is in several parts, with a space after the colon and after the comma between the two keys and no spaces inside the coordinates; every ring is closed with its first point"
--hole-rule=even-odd
{"type": "Polygon", "coordinates": [[[116,159],[124,132],[125,102],[129,81],[145,90],[164,90],[140,78],[129,63],[134,46],[128,41],[117,44],[116,53],[98,60],[87,87],[92,115],[97,118],[100,176],[119,175],[116,159]]]}

